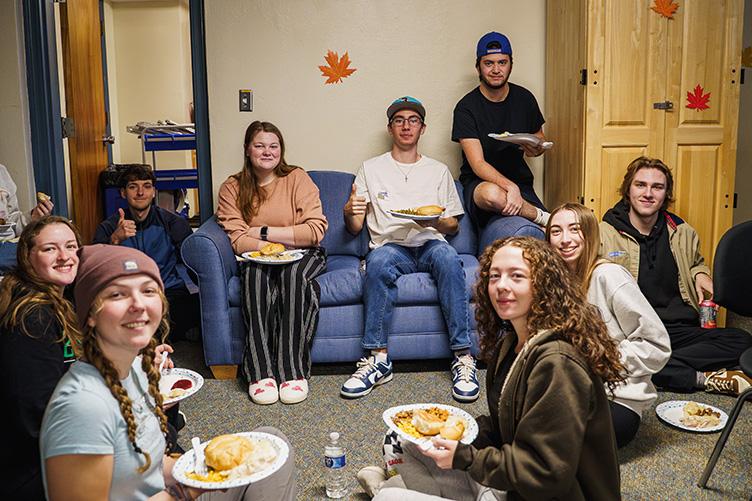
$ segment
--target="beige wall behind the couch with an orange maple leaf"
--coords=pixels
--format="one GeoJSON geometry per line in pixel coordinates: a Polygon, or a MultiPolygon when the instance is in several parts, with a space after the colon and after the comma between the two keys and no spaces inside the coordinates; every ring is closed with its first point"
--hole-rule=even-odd
{"type": "MultiPolygon", "coordinates": [[[[253,120],[275,123],[287,161],[308,170],[355,172],[389,146],[386,108],[403,95],[426,106],[420,150],[459,171],[450,140],[452,110],[478,83],[475,45],[484,33],[509,36],[511,81],[544,107],[545,2],[529,0],[224,0],[206,9],[209,120],[215,192],[242,165],[253,120]],[[327,50],[347,51],[357,71],[324,85],[327,50]],[[238,90],[254,109],[238,111],[238,90]]],[[[555,138],[554,138],[555,140],[555,138]]],[[[542,159],[534,172],[542,196],[542,159]]]]}

